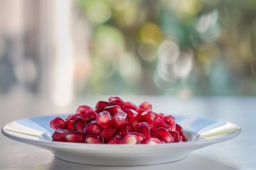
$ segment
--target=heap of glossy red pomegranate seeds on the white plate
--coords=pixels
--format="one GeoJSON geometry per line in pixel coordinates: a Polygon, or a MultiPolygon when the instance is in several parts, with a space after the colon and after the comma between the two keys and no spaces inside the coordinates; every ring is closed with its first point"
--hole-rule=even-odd
{"type": "Polygon", "coordinates": [[[56,117],[50,126],[56,130],[53,141],[88,144],[165,144],[187,141],[182,127],[171,115],[152,111],[143,102],[136,106],[119,97],[99,101],[95,108],[79,106],[65,120],[56,117]]]}

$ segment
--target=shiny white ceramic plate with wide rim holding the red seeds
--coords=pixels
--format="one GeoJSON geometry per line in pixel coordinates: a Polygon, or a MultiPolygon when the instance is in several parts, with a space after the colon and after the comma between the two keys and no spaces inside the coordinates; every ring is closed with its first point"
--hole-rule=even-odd
{"type": "Polygon", "coordinates": [[[65,115],[29,117],[6,124],[2,133],[10,139],[51,151],[65,161],[100,166],[142,166],[178,161],[211,144],[227,141],[240,133],[240,127],[229,121],[195,115],[175,116],[188,142],[158,145],[78,144],[54,142],[50,120],[65,115]]]}

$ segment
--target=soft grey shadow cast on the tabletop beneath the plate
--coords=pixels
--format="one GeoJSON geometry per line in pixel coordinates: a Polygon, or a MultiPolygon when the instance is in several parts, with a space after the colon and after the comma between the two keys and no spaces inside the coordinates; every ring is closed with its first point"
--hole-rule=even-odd
{"type": "Polygon", "coordinates": [[[63,161],[54,157],[51,168],[61,170],[183,170],[183,169],[202,169],[202,170],[236,170],[231,166],[216,162],[206,157],[190,154],[185,159],[171,163],[163,163],[152,166],[92,166],[79,163],[63,161]]]}

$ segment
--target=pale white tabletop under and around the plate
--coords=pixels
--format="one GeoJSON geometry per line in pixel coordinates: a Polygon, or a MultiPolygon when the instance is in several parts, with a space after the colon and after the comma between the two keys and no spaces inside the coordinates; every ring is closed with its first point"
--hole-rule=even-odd
{"type": "MultiPolygon", "coordinates": [[[[24,98],[0,98],[0,126],[24,117],[66,113],[81,104],[94,106],[107,96],[85,97],[68,107],[24,98]]],[[[124,96],[136,104],[146,100],[153,110],[175,114],[197,114],[218,117],[238,124],[242,132],[229,141],[192,152],[181,161],[154,166],[104,167],[62,161],[41,148],[13,141],[0,134],[1,170],[256,170],[256,97],[176,97],[124,96]]]]}

